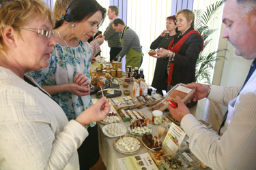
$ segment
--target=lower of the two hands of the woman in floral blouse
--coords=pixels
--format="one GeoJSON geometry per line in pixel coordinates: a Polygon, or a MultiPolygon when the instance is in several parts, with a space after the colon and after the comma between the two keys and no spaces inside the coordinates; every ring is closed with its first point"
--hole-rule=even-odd
{"type": "Polygon", "coordinates": [[[78,84],[68,84],[68,92],[71,92],[74,95],[79,97],[87,96],[91,92],[91,88],[89,86],[79,86],[78,84]]]}

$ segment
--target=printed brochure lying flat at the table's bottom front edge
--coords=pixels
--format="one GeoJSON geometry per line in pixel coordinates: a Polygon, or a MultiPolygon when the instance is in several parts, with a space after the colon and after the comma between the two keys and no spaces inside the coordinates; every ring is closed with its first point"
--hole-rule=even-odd
{"type": "Polygon", "coordinates": [[[156,170],[156,164],[151,158],[149,153],[139,154],[134,156],[128,156],[125,158],[117,158],[119,166],[122,170],[156,170]]]}

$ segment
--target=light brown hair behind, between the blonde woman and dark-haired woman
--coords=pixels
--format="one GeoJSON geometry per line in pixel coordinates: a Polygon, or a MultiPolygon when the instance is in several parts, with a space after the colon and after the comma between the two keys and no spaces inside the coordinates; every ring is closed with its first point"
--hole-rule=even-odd
{"type": "Polygon", "coordinates": [[[73,0],[57,0],[55,1],[55,5],[53,7],[53,13],[55,15],[55,21],[58,22],[61,20],[61,16],[65,16],[66,8],[68,4],[73,0]]]}

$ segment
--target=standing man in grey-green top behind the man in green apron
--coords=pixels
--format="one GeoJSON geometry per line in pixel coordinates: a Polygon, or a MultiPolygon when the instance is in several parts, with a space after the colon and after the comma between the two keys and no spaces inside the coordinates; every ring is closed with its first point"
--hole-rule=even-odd
{"type": "Polygon", "coordinates": [[[109,16],[109,20],[111,20],[111,22],[109,23],[109,27],[106,28],[106,31],[104,31],[103,35],[105,36],[105,40],[108,41],[110,48],[109,61],[113,61],[113,58],[115,58],[115,56],[117,56],[117,54],[119,54],[119,52],[122,50],[122,44],[119,41],[119,33],[116,33],[112,27],[113,20],[118,18],[119,8],[115,5],[109,6],[107,15],[109,16]]]}

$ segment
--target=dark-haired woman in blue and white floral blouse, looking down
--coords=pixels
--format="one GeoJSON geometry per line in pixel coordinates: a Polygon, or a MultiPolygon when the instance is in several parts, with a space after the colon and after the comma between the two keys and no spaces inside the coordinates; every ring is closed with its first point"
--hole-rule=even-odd
{"type": "MultiPolygon", "coordinates": [[[[97,33],[105,15],[106,9],[96,0],[71,1],[63,19],[55,24],[57,45],[50,64],[28,73],[59,103],[68,120],[75,120],[92,104],[88,86],[91,46],[87,40],[97,33]]],[[[100,158],[96,122],[86,128],[90,135],[78,150],[81,169],[89,169],[100,158]]]]}

